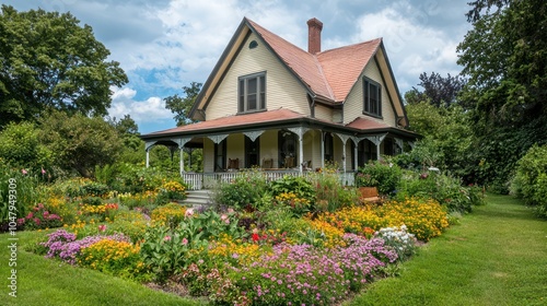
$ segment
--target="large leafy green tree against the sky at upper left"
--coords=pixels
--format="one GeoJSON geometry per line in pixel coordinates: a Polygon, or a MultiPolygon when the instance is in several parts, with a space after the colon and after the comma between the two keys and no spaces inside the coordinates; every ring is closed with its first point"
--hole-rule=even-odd
{"type": "Polygon", "coordinates": [[[110,86],[128,82],[91,26],[70,13],[2,5],[0,14],[0,128],[37,120],[46,109],[105,116],[110,86]]]}

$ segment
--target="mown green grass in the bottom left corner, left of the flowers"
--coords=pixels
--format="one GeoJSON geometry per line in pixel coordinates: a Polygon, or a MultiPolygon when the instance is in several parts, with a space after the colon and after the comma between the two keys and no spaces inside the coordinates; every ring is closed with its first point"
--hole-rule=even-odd
{"type": "Polygon", "coordinates": [[[36,233],[16,233],[16,267],[9,267],[8,234],[0,235],[1,305],[199,305],[176,295],[144,287],[136,282],[74,268],[23,250],[36,233]],[[8,287],[11,269],[16,269],[18,296],[8,287]]]}

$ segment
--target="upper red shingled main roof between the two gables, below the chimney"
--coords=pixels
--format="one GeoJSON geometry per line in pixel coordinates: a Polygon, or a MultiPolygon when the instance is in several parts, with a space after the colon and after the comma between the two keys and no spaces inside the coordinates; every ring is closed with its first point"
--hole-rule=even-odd
{"type": "Polygon", "coordinates": [[[376,38],[312,55],[246,19],[281,60],[317,95],[344,102],[382,43],[376,38]]]}

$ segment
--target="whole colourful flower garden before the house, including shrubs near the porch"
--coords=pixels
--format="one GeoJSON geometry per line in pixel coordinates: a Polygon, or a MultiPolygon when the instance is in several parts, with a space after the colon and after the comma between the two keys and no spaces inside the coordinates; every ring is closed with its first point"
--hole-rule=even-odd
{"type": "Polygon", "coordinates": [[[456,178],[386,162],[356,177],[380,203],[335,168],[275,181],[248,170],[219,184],[209,208],[181,204],[185,184],[153,168],[56,183],[25,172],[19,192],[35,204],[16,223],[36,233],[27,250],[213,305],[339,304],[482,201],[456,178]]]}

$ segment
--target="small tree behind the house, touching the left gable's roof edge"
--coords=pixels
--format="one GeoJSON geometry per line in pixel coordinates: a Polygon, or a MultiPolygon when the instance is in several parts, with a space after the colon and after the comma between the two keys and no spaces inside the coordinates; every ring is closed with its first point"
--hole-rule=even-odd
{"type": "Polygon", "coordinates": [[[171,109],[171,111],[175,114],[173,119],[176,120],[177,127],[197,122],[197,120],[188,117],[188,114],[201,90],[201,83],[191,82],[189,87],[183,86],[183,91],[186,95],[185,97],[175,94],[165,98],[165,108],[171,109]]]}

